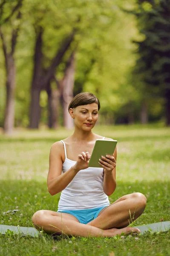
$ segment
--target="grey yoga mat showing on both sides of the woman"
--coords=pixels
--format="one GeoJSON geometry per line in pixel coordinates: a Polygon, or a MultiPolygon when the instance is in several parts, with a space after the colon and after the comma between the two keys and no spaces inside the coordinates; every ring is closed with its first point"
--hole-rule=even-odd
{"type": "MultiPolygon", "coordinates": [[[[162,221],[153,224],[147,224],[143,226],[138,226],[137,228],[141,230],[141,234],[144,234],[145,231],[164,232],[170,230],[170,221],[162,221]]],[[[30,235],[33,237],[38,237],[38,235],[40,234],[34,227],[0,225],[0,233],[5,235],[8,230],[14,231],[14,233],[16,234],[20,233],[22,236],[30,235]]]]}

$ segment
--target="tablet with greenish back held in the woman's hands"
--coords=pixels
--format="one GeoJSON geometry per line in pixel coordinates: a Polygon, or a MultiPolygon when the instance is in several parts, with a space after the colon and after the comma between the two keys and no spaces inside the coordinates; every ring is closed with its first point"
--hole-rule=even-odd
{"type": "Polygon", "coordinates": [[[101,155],[113,155],[116,144],[117,140],[96,140],[88,166],[102,168],[101,165],[98,163],[99,159],[101,159],[101,155]]]}

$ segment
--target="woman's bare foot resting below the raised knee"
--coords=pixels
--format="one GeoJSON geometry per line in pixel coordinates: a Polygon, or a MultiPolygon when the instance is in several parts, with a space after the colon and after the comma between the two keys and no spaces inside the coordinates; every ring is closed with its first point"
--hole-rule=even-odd
{"type": "Polygon", "coordinates": [[[132,234],[133,236],[138,235],[141,233],[141,231],[137,227],[124,227],[124,228],[110,228],[109,230],[106,230],[106,236],[112,237],[116,235],[121,235],[124,233],[125,235],[132,234]]]}

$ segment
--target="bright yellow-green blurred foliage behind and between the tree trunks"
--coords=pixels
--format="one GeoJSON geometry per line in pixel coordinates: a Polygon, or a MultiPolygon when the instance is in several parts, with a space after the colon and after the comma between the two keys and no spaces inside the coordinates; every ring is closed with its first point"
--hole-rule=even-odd
{"type": "MultiPolygon", "coordinates": [[[[17,1],[13,1],[12,5],[9,5],[7,1],[2,16],[3,22],[16,4],[17,1]]],[[[10,23],[3,24],[6,40],[9,42],[12,28],[20,22],[20,32],[15,51],[17,65],[16,126],[26,127],[29,124],[33,55],[36,32],[40,27],[43,29],[43,68],[45,69],[51,64],[63,39],[72,32],[72,29],[75,29],[75,40],[56,70],[56,77],[58,80],[63,78],[66,61],[72,49],[77,46],[74,94],[81,91],[95,93],[101,101],[101,113],[104,117],[111,114],[111,122],[113,123],[119,116],[127,116],[133,105],[135,121],[138,121],[141,101],[145,97],[149,102],[150,119],[161,118],[164,101],[158,95],[160,91],[156,87],[153,92],[158,95],[158,98],[151,100],[150,91],[147,92],[143,79],[147,78],[147,72],[150,76],[150,71],[145,70],[140,76],[132,74],[138,56],[133,54],[137,50],[137,46],[132,43],[131,39],[135,38],[137,41],[143,39],[136,29],[136,18],[121,9],[122,7],[133,8],[134,6],[137,5],[133,0],[130,2],[115,1],[114,3],[111,0],[23,1],[20,21],[16,20],[16,14],[14,14],[10,23]]],[[[138,7],[138,13],[149,15],[150,12],[153,12],[151,6],[149,2],[145,1],[140,8],[138,7]]],[[[143,17],[140,25],[143,29],[142,24],[144,24],[145,16],[141,15],[140,17],[143,17]]],[[[158,21],[156,22],[158,23],[158,21]]],[[[159,22],[163,24],[165,20],[161,19],[159,22]]],[[[163,34],[161,35],[163,36],[163,34]]],[[[150,37],[150,44],[156,45],[159,35],[153,37],[153,33],[151,33],[148,36],[150,37]]],[[[8,49],[10,49],[10,44],[8,44],[8,49]]],[[[146,52],[145,55],[147,56],[147,54],[146,52]]],[[[1,96],[3,100],[0,101],[0,109],[2,109],[0,126],[3,126],[5,62],[3,58],[1,59],[0,77],[2,81],[0,92],[3,93],[3,96],[1,96]]],[[[138,69],[144,65],[141,63],[143,62],[138,61],[138,69]]],[[[167,65],[168,60],[162,58],[161,61],[154,60],[154,63],[155,70],[158,70],[167,65]]],[[[160,74],[159,77],[163,79],[164,76],[160,74]]],[[[56,87],[55,83],[53,83],[54,87],[56,87]]],[[[41,122],[47,123],[47,100],[42,101],[41,99],[40,105],[42,107],[41,122]]]]}

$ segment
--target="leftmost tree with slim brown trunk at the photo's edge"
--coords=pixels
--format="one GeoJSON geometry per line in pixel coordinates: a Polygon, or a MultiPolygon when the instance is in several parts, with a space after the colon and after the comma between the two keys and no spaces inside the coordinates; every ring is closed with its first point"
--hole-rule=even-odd
{"type": "Polygon", "coordinates": [[[14,90],[15,90],[15,60],[14,52],[20,30],[22,0],[0,4],[0,38],[2,41],[3,54],[6,67],[6,109],[4,120],[4,132],[9,134],[14,127],[14,90]],[[10,29],[9,29],[10,27],[10,29]],[[5,30],[11,30],[11,38],[8,40],[4,35],[5,30]]]}

